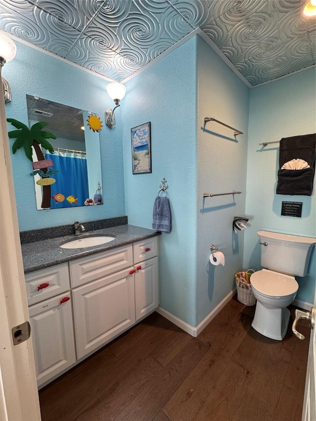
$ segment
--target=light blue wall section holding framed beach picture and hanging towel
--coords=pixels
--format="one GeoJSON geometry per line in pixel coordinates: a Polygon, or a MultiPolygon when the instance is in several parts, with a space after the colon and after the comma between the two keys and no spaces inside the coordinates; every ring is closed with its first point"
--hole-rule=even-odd
{"type": "Polygon", "coordinates": [[[196,323],[197,161],[196,38],[126,83],[122,101],[126,214],[152,228],[163,177],[169,185],[172,232],[160,238],[160,306],[196,323]],[[152,173],[132,175],[130,129],[151,121],[152,173]]]}

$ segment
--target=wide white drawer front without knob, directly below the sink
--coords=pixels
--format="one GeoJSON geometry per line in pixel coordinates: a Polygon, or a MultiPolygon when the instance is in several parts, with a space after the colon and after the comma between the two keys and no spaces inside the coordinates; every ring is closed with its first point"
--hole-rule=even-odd
{"type": "Polygon", "coordinates": [[[133,266],[133,247],[127,245],[69,262],[72,287],[133,266]]]}

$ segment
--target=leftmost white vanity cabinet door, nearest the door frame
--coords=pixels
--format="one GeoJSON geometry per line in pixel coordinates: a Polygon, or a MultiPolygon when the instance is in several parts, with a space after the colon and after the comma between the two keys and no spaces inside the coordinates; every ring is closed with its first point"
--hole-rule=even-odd
{"type": "Polygon", "coordinates": [[[76,362],[70,292],[29,307],[29,313],[40,386],[76,362]]]}

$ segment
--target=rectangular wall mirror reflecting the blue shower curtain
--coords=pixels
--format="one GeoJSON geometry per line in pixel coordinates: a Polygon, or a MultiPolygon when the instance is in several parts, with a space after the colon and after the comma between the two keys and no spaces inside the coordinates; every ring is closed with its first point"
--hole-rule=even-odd
{"type": "Polygon", "coordinates": [[[26,101],[29,127],[46,121],[43,131],[56,136],[47,139],[54,153],[42,150],[47,168],[36,165],[41,159],[33,153],[37,209],[103,204],[100,139],[88,123],[91,113],[31,95],[26,101]]]}

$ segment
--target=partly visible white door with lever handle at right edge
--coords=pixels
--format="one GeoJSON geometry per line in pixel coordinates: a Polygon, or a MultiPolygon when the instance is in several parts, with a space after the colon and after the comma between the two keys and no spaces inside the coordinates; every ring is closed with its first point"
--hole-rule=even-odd
{"type": "Polygon", "coordinates": [[[316,290],[314,297],[314,307],[311,311],[295,310],[295,320],[293,323],[293,333],[299,338],[304,339],[304,336],[297,332],[296,324],[300,318],[305,318],[310,321],[312,332],[310,338],[310,347],[307,361],[307,373],[305,383],[305,394],[303,404],[302,421],[316,420],[316,388],[315,388],[315,373],[316,373],[316,290]]]}

